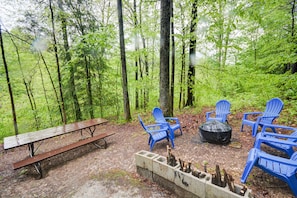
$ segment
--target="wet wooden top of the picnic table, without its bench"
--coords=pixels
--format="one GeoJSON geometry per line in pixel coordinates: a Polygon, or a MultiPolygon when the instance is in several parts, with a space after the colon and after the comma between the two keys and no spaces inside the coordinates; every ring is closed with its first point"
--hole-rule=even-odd
{"type": "Polygon", "coordinates": [[[90,120],[75,122],[62,126],[42,129],[39,131],[33,131],[28,133],[22,133],[19,135],[9,136],[4,138],[4,149],[11,149],[14,147],[38,142],[55,136],[63,135],[66,133],[90,128],[96,125],[106,123],[106,119],[94,118],[90,120]]]}

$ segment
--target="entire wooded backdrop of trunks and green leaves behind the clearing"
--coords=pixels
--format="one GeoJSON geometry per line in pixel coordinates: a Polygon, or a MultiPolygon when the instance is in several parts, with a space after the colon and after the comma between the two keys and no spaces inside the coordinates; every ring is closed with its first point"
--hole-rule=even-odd
{"type": "Polygon", "coordinates": [[[1,0],[0,12],[0,140],[94,117],[136,119],[162,107],[164,80],[174,113],[219,99],[232,112],[264,110],[279,97],[280,122],[296,123],[295,0],[1,0]]]}

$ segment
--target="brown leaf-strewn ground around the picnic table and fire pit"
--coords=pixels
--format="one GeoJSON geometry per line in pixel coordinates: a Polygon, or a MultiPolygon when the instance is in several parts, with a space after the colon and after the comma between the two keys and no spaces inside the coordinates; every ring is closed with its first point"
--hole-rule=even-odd
{"type": "MultiPolygon", "coordinates": [[[[229,116],[232,139],[228,145],[201,143],[198,127],[205,122],[204,109],[200,114],[175,115],[183,126],[183,135],[176,133],[173,154],[177,159],[192,162],[203,170],[215,172],[216,165],[225,169],[240,184],[248,151],[254,139],[251,129],[240,132],[242,114],[229,116]]],[[[148,124],[151,115],[143,115],[148,124]]],[[[27,155],[27,147],[4,151],[0,145],[0,197],[176,197],[155,183],[141,178],[136,173],[134,154],[149,150],[148,135],[137,120],[127,124],[109,122],[96,128],[95,133],[115,132],[106,138],[107,149],[97,149],[93,144],[74,149],[42,161],[44,178],[37,179],[32,166],[13,170],[12,164],[27,155]]],[[[58,148],[62,144],[77,141],[80,133],[45,140],[38,145],[39,152],[58,148]]],[[[152,152],[167,156],[167,141],[156,143],[152,152]]],[[[248,178],[247,187],[255,197],[293,197],[286,183],[254,168],[248,178]]]]}

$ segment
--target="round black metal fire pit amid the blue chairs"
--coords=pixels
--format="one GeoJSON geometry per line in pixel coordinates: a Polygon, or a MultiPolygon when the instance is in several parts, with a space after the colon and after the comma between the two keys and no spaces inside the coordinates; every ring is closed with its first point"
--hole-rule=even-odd
{"type": "Polygon", "coordinates": [[[199,126],[200,139],[202,142],[228,144],[232,135],[229,124],[211,120],[199,126]]]}

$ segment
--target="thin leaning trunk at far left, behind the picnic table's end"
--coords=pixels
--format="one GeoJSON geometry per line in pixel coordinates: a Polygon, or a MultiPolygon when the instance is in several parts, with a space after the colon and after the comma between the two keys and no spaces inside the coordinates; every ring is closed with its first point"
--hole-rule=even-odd
{"type": "Polygon", "coordinates": [[[14,132],[15,132],[15,135],[18,135],[19,134],[18,123],[17,123],[16,112],[15,112],[12,88],[11,88],[10,79],[9,79],[8,67],[7,67],[7,62],[6,62],[6,58],[5,58],[5,51],[4,51],[4,44],[3,44],[3,38],[2,38],[1,24],[0,24],[0,45],[1,45],[1,54],[2,54],[3,65],[4,65],[4,69],[5,69],[5,74],[6,74],[6,82],[7,82],[9,96],[10,96],[14,132]]]}

